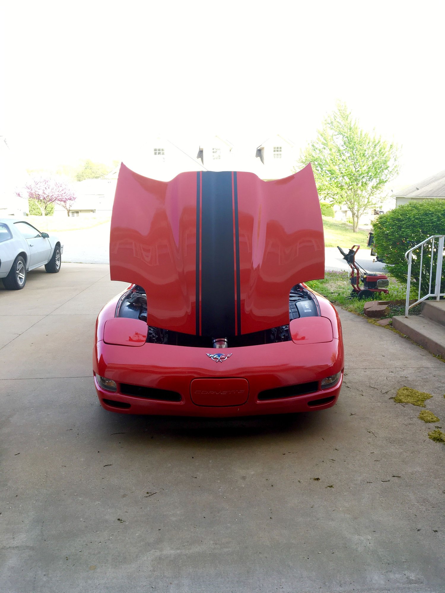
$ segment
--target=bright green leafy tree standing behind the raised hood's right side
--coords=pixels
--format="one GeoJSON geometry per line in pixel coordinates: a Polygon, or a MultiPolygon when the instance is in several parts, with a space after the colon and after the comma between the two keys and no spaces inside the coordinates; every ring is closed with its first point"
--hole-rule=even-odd
{"type": "Polygon", "coordinates": [[[339,102],[301,152],[300,164],[309,162],[320,196],[347,205],[357,232],[360,216],[382,200],[385,184],[398,173],[398,147],[360,129],[339,102]]]}

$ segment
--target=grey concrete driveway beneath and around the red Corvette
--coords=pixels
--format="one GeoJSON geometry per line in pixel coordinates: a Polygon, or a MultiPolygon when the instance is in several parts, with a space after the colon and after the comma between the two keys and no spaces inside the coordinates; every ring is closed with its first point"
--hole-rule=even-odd
{"type": "Polygon", "coordinates": [[[445,590],[445,365],[341,311],[330,410],[205,420],[120,416],[91,378],[104,265],[0,290],[0,590],[288,593],[445,590]],[[441,426],[443,423],[439,423],[441,426]]]}

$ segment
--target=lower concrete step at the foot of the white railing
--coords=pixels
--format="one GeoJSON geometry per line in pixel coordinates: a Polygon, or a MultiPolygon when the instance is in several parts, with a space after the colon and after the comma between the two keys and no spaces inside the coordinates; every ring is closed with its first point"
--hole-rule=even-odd
{"type": "Polygon", "coordinates": [[[423,315],[392,318],[393,327],[432,354],[445,357],[445,327],[423,315]]]}

